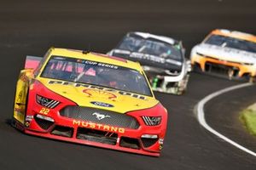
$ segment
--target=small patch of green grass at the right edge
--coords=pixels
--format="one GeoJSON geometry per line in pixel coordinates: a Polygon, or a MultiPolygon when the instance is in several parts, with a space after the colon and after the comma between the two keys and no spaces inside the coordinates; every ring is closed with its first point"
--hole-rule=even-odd
{"type": "Polygon", "coordinates": [[[256,111],[249,109],[242,111],[241,120],[244,122],[249,133],[256,136],[256,111]]]}

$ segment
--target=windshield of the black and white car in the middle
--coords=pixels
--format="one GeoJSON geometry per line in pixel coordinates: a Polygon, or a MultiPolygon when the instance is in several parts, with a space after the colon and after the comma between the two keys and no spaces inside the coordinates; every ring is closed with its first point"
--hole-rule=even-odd
{"type": "Polygon", "coordinates": [[[154,38],[145,39],[138,36],[126,36],[123,41],[119,43],[118,48],[131,52],[157,55],[164,58],[168,57],[178,61],[183,59],[180,45],[172,46],[169,43],[161,42],[154,38]]]}

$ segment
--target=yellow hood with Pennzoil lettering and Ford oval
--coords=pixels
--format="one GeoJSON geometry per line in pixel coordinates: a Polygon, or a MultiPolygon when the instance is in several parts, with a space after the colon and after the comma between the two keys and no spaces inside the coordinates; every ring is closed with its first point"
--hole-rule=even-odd
{"type": "Polygon", "coordinates": [[[113,88],[102,88],[76,82],[38,78],[46,88],[72,100],[77,105],[88,106],[108,111],[126,113],[154,107],[159,103],[154,97],[132,94],[113,88]]]}

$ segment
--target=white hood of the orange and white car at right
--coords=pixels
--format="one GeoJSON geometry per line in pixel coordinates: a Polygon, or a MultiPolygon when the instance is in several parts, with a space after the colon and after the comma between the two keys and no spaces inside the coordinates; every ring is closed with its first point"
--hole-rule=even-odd
{"type": "Polygon", "coordinates": [[[256,54],[235,48],[219,47],[216,45],[201,43],[200,45],[195,46],[195,52],[198,54],[232,62],[250,64],[256,63],[256,54]]]}

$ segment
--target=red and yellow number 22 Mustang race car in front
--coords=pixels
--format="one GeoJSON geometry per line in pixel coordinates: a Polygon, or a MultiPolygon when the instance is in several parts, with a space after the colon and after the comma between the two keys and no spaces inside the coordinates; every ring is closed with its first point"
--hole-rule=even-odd
{"type": "Polygon", "coordinates": [[[167,111],[138,63],[50,48],[44,58],[26,57],[12,124],[45,138],[160,156],[167,111]]]}

